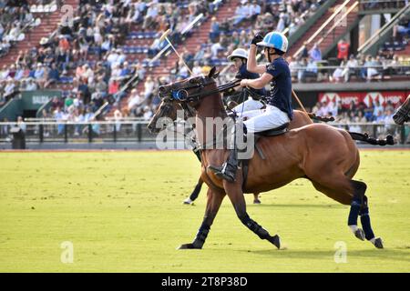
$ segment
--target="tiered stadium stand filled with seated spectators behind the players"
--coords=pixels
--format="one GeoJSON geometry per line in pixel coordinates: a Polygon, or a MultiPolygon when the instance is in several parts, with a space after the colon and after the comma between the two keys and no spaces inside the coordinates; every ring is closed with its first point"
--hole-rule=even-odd
{"type": "MultiPolygon", "coordinates": [[[[357,26],[359,7],[396,11],[405,1],[389,2],[387,7],[379,1],[359,4],[353,0],[119,1],[118,5],[94,0],[40,2],[22,1],[16,8],[9,1],[0,6],[15,17],[15,25],[29,24],[24,41],[11,40],[7,49],[5,41],[11,38],[5,36],[13,26],[4,25],[7,14],[0,17],[6,47],[0,57],[0,107],[21,90],[62,90],[63,99],[53,99],[50,109],[41,115],[44,118],[87,121],[104,106],[108,118],[149,119],[159,105],[159,85],[189,76],[170,50],[150,61],[167,45],[158,40],[169,28],[172,43],[194,74],[206,74],[211,65],[229,65],[226,56],[233,49],[247,48],[255,32],[271,30],[294,38],[288,61],[295,83],[372,82],[409,74],[405,66],[410,55],[407,18],[395,25],[391,40],[375,55],[354,54],[343,38],[357,26]],[[73,8],[72,25],[61,22],[63,5],[73,8]],[[186,25],[196,18],[198,23],[183,35],[186,25]],[[336,61],[327,57],[332,50],[336,51],[336,61]]],[[[229,69],[220,82],[233,78],[233,74],[229,69]]],[[[351,121],[357,117],[367,122],[383,119],[377,113],[365,115],[364,110],[359,114],[356,108],[337,110],[339,106],[319,103],[314,111],[340,115],[344,120],[352,117],[351,121]]],[[[390,115],[387,109],[383,111],[384,117],[390,115]]]]}

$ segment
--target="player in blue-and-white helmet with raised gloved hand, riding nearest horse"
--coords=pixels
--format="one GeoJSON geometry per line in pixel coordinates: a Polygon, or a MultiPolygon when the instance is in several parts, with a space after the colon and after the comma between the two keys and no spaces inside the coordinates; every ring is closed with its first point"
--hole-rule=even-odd
{"type": "MultiPolygon", "coordinates": [[[[288,48],[286,36],[278,32],[271,32],[265,37],[255,35],[251,41],[251,49],[247,63],[247,70],[261,74],[256,79],[242,79],[241,87],[261,89],[271,83],[271,91],[267,95],[265,109],[246,112],[248,120],[243,124],[248,133],[254,134],[274,129],[289,123],[292,120],[292,77],[288,63],[283,56],[288,48]],[[268,65],[256,64],[257,45],[263,47],[268,65]]],[[[209,166],[216,176],[229,182],[235,181],[238,168],[237,150],[231,150],[228,160],[220,167],[209,166]]]]}

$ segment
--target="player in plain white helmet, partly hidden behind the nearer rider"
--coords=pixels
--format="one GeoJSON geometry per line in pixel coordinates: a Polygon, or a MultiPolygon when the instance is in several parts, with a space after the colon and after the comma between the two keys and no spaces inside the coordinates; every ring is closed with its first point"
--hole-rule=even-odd
{"type": "MultiPolygon", "coordinates": [[[[247,70],[247,63],[248,63],[248,51],[243,48],[235,49],[231,55],[228,55],[228,61],[232,62],[235,68],[237,69],[237,74],[235,78],[238,80],[243,79],[257,79],[260,77],[257,73],[251,73],[247,70]]],[[[231,89],[232,91],[241,90],[240,98],[234,100],[232,96],[228,97],[227,105],[231,107],[231,102],[234,103],[241,103],[241,105],[236,105],[232,111],[236,113],[236,115],[241,116],[241,113],[244,111],[256,110],[261,109],[265,105],[265,95],[266,90],[265,88],[261,89],[254,89],[250,88],[249,90],[241,89],[240,87],[235,87],[231,89]],[[248,100],[246,100],[248,98],[248,100]],[[238,102],[240,101],[241,102],[238,102]]]]}

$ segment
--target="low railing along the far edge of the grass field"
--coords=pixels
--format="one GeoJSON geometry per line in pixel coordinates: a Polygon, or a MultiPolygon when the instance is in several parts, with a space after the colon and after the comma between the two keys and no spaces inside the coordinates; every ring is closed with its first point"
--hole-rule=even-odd
{"type": "MultiPolygon", "coordinates": [[[[149,133],[149,121],[42,121],[24,123],[0,123],[0,144],[10,143],[14,135],[12,129],[20,128],[20,134],[25,136],[27,142],[43,143],[118,143],[118,142],[155,142],[157,135],[149,133]]],[[[385,135],[394,135],[398,144],[410,144],[410,123],[395,125],[394,123],[328,123],[335,127],[343,128],[356,133],[368,133],[374,138],[385,138],[385,135]]],[[[174,138],[184,140],[183,122],[176,124],[174,138]]],[[[169,129],[170,132],[173,132],[169,129]]]]}

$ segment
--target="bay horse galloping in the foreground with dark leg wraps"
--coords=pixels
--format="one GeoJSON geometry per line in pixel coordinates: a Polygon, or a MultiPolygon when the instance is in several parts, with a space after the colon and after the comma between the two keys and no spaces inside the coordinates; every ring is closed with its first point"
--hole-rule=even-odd
{"type": "MultiPolygon", "coordinates": [[[[212,78],[215,69],[207,76],[194,76],[171,85],[159,87],[161,98],[176,100],[181,105],[195,108],[198,123],[206,118],[227,118],[220,93],[212,78]],[[206,102],[205,102],[206,101],[206,102]]],[[[196,128],[200,143],[206,144],[207,132],[196,128]],[[204,143],[205,142],[205,143],[204,143]]],[[[313,186],[333,200],[351,206],[348,226],[354,236],[367,239],[377,248],[383,248],[380,237],[374,236],[370,223],[366,184],[353,177],[360,165],[359,150],[352,136],[343,129],[330,125],[312,124],[292,129],[283,135],[261,137],[257,145],[265,158],[254,155],[249,161],[249,175],[243,183],[242,168],[235,182],[215,176],[209,166],[220,166],[229,155],[228,149],[204,148],[201,151],[201,178],[209,186],[207,206],[200,229],[192,243],[179,249],[200,249],[210,233],[224,196],[228,196],[241,223],[261,239],[266,239],[278,249],[281,239],[271,236],[261,225],[251,219],[246,211],[243,193],[267,192],[285,186],[297,178],[309,179],[313,186]],[[357,226],[361,218],[363,229],[357,226]]]]}

